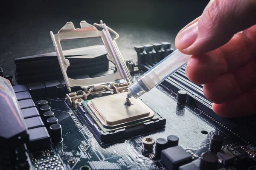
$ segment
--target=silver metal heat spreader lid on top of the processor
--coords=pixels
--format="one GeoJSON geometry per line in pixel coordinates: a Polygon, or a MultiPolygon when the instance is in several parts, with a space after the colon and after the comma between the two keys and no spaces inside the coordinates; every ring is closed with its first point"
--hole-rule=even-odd
{"type": "Polygon", "coordinates": [[[88,106],[106,127],[129,125],[154,116],[154,112],[141,100],[131,98],[133,105],[123,105],[126,97],[127,93],[104,96],[90,100],[88,106]]]}

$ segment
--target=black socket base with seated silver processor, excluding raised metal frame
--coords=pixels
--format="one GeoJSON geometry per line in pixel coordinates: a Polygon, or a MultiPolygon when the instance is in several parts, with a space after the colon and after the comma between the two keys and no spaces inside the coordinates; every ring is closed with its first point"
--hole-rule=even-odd
{"type": "Polygon", "coordinates": [[[77,116],[91,128],[99,144],[105,145],[165,128],[166,119],[140,99],[131,98],[124,106],[127,93],[113,94],[79,103],[77,116]]]}

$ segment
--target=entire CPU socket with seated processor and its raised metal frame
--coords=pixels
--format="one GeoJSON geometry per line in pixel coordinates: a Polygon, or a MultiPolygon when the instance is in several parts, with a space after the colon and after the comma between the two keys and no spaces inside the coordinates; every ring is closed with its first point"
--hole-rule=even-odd
{"type": "MultiPolygon", "coordinates": [[[[113,143],[164,129],[166,119],[152,111],[140,99],[131,98],[133,105],[123,105],[132,77],[115,42],[119,35],[102,21],[99,24],[94,23],[94,26],[81,21],[80,26],[81,28],[75,28],[73,23],[68,22],[58,34],[51,31],[61,72],[70,92],[66,94],[65,100],[73,109],[73,113],[87,125],[99,144],[113,143]],[[116,38],[112,40],[109,31],[115,34],[116,38]],[[86,79],[68,77],[67,68],[70,62],[63,54],[61,41],[92,37],[102,39],[106,57],[115,65],[115,71],[113,74],[86,79]],[[77,86],[81,90],[73,90],[77,86]]],[[[90,59],[95,57],[86,56],[90,59]]]]}

